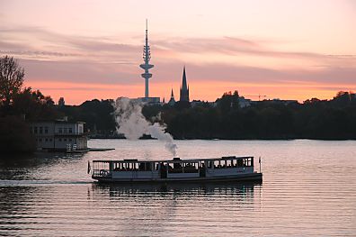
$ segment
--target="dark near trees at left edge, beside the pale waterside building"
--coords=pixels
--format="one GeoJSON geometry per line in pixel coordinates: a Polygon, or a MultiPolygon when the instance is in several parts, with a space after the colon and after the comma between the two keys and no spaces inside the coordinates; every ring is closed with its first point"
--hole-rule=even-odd
{"type": "Polygon", "coordinates": [[[58,116],[50,96],[22,87],[24,69],[13,57],[0,58],[0,150],[28,153],[36,149],[28,121],[58,116]]]}

